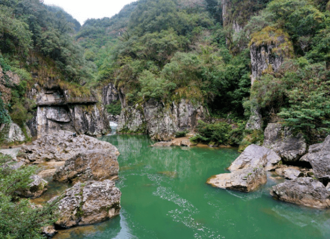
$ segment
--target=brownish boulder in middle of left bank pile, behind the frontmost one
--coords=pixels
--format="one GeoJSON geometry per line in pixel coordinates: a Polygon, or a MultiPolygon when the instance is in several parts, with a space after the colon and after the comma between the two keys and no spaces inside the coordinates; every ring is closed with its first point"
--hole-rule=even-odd
{"type": "Polygon", "coordinates": [[[101,181],[118,177],[119,164],[115,151],[86,150],[65,161],[58,168],[53,180],[61,182],[77,182],[87,180],[101,181]]]}

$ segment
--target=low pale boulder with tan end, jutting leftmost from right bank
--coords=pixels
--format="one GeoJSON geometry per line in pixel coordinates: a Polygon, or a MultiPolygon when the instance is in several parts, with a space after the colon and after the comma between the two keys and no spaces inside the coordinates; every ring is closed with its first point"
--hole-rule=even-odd
{"type": "Polygon", "coordinates": [[[262,167],[238,169],[212,176],[207,180],[208,184],[215,187],[246,192],[253,191],[266,182],[266,172],[262,167]]]}

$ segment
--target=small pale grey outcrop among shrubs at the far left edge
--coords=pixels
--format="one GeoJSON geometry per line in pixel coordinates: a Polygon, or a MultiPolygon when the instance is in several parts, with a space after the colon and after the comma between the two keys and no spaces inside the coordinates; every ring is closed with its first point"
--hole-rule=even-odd
{"type": "Polygon", "coordinates": [[[23,142],[31,137],[29,128],[24,126],[25,133],[23,130],[14,122],[10,120],[9,123],[3,124],[0,127],[0,139],[4,143],[11,142],[23,142]]]}

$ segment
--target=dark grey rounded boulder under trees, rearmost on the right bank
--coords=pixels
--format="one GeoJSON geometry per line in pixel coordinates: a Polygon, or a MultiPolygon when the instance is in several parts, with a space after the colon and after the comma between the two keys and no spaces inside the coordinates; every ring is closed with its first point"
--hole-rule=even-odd
{"type": "Polygon", "coordinates": [[[281,123],[269,123],[264,132],[264,147],[277,152],[285,161],[297,161],[306,153],[306,141],[301,133],[294,133],[281,123]]]}

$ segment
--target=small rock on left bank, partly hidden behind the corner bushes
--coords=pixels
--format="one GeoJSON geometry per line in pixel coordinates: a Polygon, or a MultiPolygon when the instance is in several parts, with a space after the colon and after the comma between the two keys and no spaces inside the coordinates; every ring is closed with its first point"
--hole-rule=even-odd
{"type": "Polygon", "coordinates": [[[48,185],[48,182],[36,174],[31,175],[30,178],[33,181],[29,184],[29,189],[19,191],[17,194],[22,197],[33,199],[41,196],[41,194],[47,190],[46,186],[48,185]]]}

